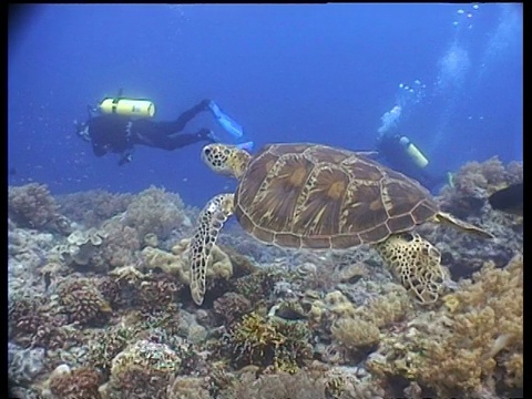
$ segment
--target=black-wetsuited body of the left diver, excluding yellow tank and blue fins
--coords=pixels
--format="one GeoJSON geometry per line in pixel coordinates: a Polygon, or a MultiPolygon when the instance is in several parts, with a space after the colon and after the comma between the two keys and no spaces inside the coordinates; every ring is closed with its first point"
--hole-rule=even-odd
{"type": "Polygon", "coordinates": [[[198,142],[214,143],[213,132],[208,129],[201,129],[195,134],[181,133],[194,116],[208,110],[209,103],[209,100],[203,100],[170,122],[132,119],[115,113],[94,115],[90,110],[86,122],[74,123],[78,135],[91,142],[94,155],[120,154],[119,165],[123,165],[132,161],[134,145],[173,151],[198,142]]]}

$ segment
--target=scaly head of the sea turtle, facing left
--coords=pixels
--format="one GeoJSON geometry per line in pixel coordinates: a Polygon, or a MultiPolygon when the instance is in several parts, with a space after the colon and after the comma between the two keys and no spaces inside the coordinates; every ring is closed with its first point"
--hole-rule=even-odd
{"type": "Polygon", "coordinates": [[[202,160],[214,172],[241,178],[244,174],[252,155],[238,149],[236,145],[208,144],[202,150],[202,160]]]}

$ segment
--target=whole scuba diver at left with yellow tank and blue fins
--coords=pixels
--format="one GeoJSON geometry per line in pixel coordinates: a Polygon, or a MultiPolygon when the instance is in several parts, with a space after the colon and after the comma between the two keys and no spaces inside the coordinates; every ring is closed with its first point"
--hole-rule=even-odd
{"type": "MultiPolygon", "coordinates": [[[[98,110],[89,106],[89,120],[84,123],[74,121],[74,124],[76,134],[92,144],[94,155],[120,154],[119,165],[123,165],[133,160],[135,145],[173,151],[198,142],[218,142],[209,129],[182,133],[185,125],[204,111],[212,111],[217,122],[233,136],[237,133],[238,137],[243,136],[242,127],[212,100],[203,100],[174,121],[156,122],[151,120],[155,113],[153,102],[124,99],[122,90],[116,98],[104,99],[98,110]]],[[[246,145],[253,145],[253,142],[242,143],[243,147],[246,145]]]]}

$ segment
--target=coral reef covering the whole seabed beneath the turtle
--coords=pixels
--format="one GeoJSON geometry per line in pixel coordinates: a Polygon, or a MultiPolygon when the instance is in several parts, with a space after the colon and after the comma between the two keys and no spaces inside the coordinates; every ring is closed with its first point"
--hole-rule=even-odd
{"type": "Polygon", "coordinates": [[[412,232],[453,279],[429,307],[374,247],[267,247],[238,224],[219,236],[198,307],[187,264],[198,209],[177,194],[10,187],[11,397],[522,397],[522,219],[485,202],[521,181],[522,165],[471,163],[454,180],[437,200],[497,238],[434,224],[412,232]],[[468,195],[480,208],[460,208],[468,195]]]}

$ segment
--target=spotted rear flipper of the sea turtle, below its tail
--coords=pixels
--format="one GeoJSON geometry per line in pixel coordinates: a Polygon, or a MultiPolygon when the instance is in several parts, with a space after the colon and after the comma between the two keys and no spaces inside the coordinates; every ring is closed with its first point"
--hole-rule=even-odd
{"type": "Polygon", "coordinates": [[[438,300],[448,279],[438,248],[413,233],[391,235],[375,248],[418,303],[429,305],[438,300]]]}

